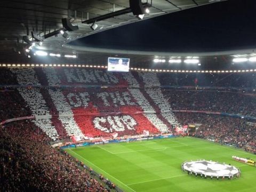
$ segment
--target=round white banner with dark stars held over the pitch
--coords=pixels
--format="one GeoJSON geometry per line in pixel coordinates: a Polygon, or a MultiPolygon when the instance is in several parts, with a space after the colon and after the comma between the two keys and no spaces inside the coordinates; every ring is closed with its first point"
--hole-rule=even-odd
{"type": "Polygon", "coordinates": [[[188,174],[200,175],[204,178],[210,177],[211,179],[232,179],[240,175],[239,169],[235,166],[205,160],[184,162],[181,169],[187,171],[188,174]]]}

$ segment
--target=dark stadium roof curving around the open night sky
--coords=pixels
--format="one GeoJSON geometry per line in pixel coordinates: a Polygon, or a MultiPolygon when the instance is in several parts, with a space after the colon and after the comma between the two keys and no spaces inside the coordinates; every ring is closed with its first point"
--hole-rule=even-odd
{"type": "MultiPolygon", "coordinates": [[[[153,0],[150,7],[150,13],[146,14],[143,20],[155,18],[158,16],[167,15],[182,10],[187,10],[201,5],[218,3],[226,0],[153,0]]],[[[142,1],[147,2],[146,0],[142,1]]],[[[148,1],[151,3],[150,1],[148,1]]],[[[221,5],[220,5],[221,6],[221,5]]],[[[97,35],[102,31],[114,29],[130,23],[139,25],[141,20],[137,19],[132,13],[119,15],[115,18],[109,18],[102,21],[97,21],[99,26],[96,30],[92,30],[91,24],[82,23],[87,19],[99,17],[113,11],[123,10],[129,7],[127,0],[55,0],[55,1],[39,1],[39,0],[2,0],[1,1],[1,31],[0,31],[0,54],[1,62],[79,62],[93,65],[106,65],[108,57],[129,57],[131,58],[132,67],[143,68],[179,68],[177,66],[167,66],[169,59],[187,57],[200,57],[202,67],[210,65],[212,69],[219,69],[223,64],[230,64],[234,57],[254,57],[253,49],[229,50],[219,52],[161,52],[161,51],[134,51],[122,49],[107,49],[102,47],[86,47],[75,46],[70,44],[77,39],[81,39],[90,35],[97,35]],[[36,45],[35,49],[41,49],[50,52],[59,53],[78,53],[79,61],[64,61],[61,58],[56,60],[40,60],[31,55],[28,59],[26,55],[13,57],[14,50],[17,52],[25,51],[23,48],[27,43],[23,42],[22,37],[28,36],[31,40],[31,31],[39,36],[49,34],[52,31],[63,28],[61,19],[71,18],[72,25],[78,25],[79,30],[67,31],[68,37],[65,38],[61,34],[46,38],[41,46],[36,45]],[[21,50],[21,51],[19,51],[21,50]],[[236,55],[236,56],[233,56],[236,55]],[[154,63],[154,59],[162,58],[166,63],[154,63]],[[59,60],[58,60],[59,59],[59,60]],[[205,64],[206,63],[206,64],[205,64]]],[[[165,16],[163,16],[165,17],[165,16]]],[[[117,28],[119,29],[119,28],[117,28]]],[[[116,30],[116,29],[115,29],[116,30]]],[[[107,32],[107,31],[106,31],[107,32]]]]}

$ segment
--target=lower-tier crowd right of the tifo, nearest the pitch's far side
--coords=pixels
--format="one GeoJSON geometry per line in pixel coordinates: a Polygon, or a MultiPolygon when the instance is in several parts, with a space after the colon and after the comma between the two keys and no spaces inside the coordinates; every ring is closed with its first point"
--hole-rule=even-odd
{"type": "Polygon", "coordinates": [[[198,124],[196,137],[234,145],[256,153],[256,121],[197,113],[175,113],[183,125],[198,124]]]}

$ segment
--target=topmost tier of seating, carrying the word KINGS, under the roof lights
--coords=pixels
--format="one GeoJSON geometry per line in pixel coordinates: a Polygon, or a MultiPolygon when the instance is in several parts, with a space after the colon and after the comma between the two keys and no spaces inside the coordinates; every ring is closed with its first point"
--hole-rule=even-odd
{"type": "Polygon", "coordinates": [[[112,73],[88,68],[0,68],[0,85],[214,86],[255,88],[250,73],[112,73]],[[37,78],[35,78],[37,76],[37,78]],[[135,81],[134,81],[135,78],[135,81]],[[40,82],[38,82],[38,79],[40,82]],[[155,82],[155,79],[158,79],[155,82]],[[18,81],[18,82],[17,82],[18,81]],[[141,83],[145,82],[145,84],[141,83]]]}

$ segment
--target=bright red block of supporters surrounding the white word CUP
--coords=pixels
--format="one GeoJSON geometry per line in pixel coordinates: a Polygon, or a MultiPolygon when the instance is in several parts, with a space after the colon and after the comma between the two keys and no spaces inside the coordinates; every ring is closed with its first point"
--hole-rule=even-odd
{"type": "MultiPolygon", "coordinates": [[[[65,91],[68,95],[70,92],[65,91]]],[[[70,91],[70,90],[69,90],[70,91]]],[[[85,90],[79,89],[83,92],[85,90]]],[[[113,89],[106,94],[112,94],[113,89]]],[[[78,90],[76,90],[79,95],[78,90]]],[[[98,92],[101,94],[102,92],[98,92]]],[[[90,95],[93,95],[91,93],[90,95]]],[[[117,93],[116,93],[117,94],[117,93]]],[[[119,94],[119,93],[118,93],[119,94]]],[[[121,93],[122,95],[122,93],[121,93]]],[[[92,98],[92,97],[91,97],[92,98]]],[[[78,98],[71,97],[70,102],[77,103],[78,98]]],[[[129,101],[135,101],[133,98],[129,101]]],[[[114,101],[116,102],[116,101],[114,101]]],[[[132,102],[132,105],[115,105],[113,100],[107,99],[104,103],[97,97],[89,102],[87,107],[73,107],[72,111],[74,119],[82,132],[87,137],[106,136],[110,133],[117,132],[119,136],[141,134],[143,130],[148,130],[150,133],[158,133],[159,130],[149,122],[143,115],[143,110],[137,103],[132,102]]]]}

